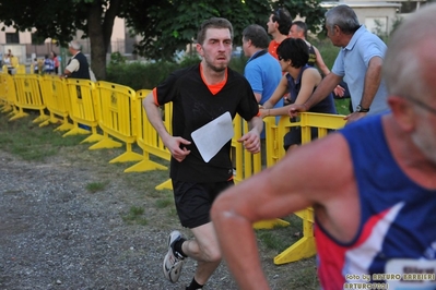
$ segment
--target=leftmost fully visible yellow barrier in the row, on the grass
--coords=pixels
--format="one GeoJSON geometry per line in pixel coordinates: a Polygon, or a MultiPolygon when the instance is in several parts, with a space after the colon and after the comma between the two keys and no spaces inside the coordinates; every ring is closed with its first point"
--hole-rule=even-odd
{"type": "Polygon", "coordinates": [[[27,113],[24,112],[24,109],[39,110],[39,117],[33,120],[34,123],[47,120],[49,117],[44,112],[46,105],[40,93],[39,75],[15,74],[13,80],[16,86],[14,105],[19,111],[10,120],[26,117],[27,113]]]}

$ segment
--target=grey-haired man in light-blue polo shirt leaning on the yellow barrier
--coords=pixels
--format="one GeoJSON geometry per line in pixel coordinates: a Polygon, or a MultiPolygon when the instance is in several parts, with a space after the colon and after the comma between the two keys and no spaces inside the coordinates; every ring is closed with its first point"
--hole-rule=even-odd
{"type": "Polygon", "coordinates": [[[326,75],[311,97],[303,105],[292,106],[290,113],[305,111],[342,81],[347,84],[354,112],[345,117],[349,122],[367,114],[388,110],[387,89],[381,80],[381,65],[386,45],[361,25],[356,13],[340,4],[326,13],[327,35],[334,46],[341,47],[331,73],[326,75]]]}

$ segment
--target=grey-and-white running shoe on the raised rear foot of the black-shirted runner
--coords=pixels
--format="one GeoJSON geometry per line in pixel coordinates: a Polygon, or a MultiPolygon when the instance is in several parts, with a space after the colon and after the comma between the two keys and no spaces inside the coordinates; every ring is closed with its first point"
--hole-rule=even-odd
{"type": "Polygon", "coordinates": [[[175,253],[173,250],[174,243],[181,239],[181,233],[179,231],[172,231],[168,237],[168,253],[166,253],[164,258],[164,276],[172,282],[177,282],[180,277],[181,267],[184,266],[184,257],[175,253]]]}

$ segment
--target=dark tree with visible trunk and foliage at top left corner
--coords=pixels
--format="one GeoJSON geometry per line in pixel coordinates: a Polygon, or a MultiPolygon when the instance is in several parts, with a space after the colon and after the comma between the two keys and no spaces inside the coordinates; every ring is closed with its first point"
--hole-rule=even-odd
{"type": "Polygon", "coordinates": [[[35,28],[38,39],[52,38],[62,46],[83,31],[83,37],[91,41],[92,68],[97,78],[104,80],[106,52],[120,3],[121,0],[0,0],[0,21],[21,32],[35,28]]]}

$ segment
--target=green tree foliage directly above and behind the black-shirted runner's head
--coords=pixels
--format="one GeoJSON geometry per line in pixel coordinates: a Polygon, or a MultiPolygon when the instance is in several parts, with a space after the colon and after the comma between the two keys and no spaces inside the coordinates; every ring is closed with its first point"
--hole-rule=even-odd
{"type": "Polygon", "coordinates": [[[137,50],[156,60],[169,60],[176,50],[195,43],[201,22],[211,16],[228,19],[234,26],[235,45],[240,45],[244,28],[254,23],[264,27],[270,13],[279,7],[285,7],[294,17],[305,17],[311,32],[319,29],[325,13],[320,0],[167,0],[156,1],[149,10],[128,2],[123,15],[131,33],[142,36],[137,50]]]}

